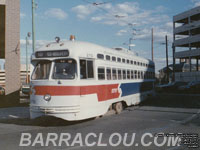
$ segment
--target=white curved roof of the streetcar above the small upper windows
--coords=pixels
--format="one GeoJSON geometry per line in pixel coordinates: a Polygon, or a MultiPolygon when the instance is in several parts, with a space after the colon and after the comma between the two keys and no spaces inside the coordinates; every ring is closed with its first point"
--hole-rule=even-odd
{"type": "Polygon", "coordinates": [[[104,54],[116,57],[124,57],[127,59],[137,59],[139,61],[144,61],[148,63],[152,63],[151,60],[145,59],[137,56],[133,51],[130,51],[125,48],[106,48],[97,44],[82,42],[82,41],[60,41],[48,43],[39,49],[38,51],[56,51],[56,50],[69,50],[71,57],[82,57],[86,56],[86,54],[93,54],[94,58],[96,58],[97,54],[104,54]]]}

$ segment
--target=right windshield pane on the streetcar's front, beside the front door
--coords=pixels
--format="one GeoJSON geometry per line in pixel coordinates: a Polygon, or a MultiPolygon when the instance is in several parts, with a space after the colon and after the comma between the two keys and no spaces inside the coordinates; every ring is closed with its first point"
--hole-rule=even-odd
{"type": "Polygon", "coordinates": [[[73,59],[59,59],[55,61],[53,79],[74,79],[76,62],[73,59]]]}

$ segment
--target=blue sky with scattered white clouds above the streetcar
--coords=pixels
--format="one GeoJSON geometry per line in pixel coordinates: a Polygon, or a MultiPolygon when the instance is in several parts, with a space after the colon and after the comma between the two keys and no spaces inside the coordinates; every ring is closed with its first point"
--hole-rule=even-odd
{"type": "MultiPolygon", "coordinates": [[[[151,29],[154,28],[154,61],[156,70],[165,67],[165,36],[169,39],[169,63],[172,63],[172,18],[200,6],[200,0],[35,0],[36,47],[69,39],[104,47],[128,48],[151,59],[151,29]]],[[[32,31],[31,0],[21,0],[21,62],[25,64],[25,37],[32,31]]],[[[29,55],[32,51],[28,47],[29,55]]]]}

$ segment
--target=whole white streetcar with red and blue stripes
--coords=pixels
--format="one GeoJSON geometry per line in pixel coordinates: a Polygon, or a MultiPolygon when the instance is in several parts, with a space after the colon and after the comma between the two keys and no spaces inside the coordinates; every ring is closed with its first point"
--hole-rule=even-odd
{"type": "Polygon", "coordinates": [[[125,48],[56,38],[31,57],[30,117],[68,121],[137,105],[154,93],[155,66],[125,48]]]}

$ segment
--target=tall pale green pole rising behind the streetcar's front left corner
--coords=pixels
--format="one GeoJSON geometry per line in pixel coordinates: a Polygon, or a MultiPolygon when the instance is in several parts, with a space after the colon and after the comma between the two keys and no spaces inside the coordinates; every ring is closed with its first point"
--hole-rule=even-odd
{"type": "Polygon", "coordinates": [[[35,0],[32,0],[32,47],[33,47],[33,53],[35,52],[35,9],[36,4],[35,0]]]}

